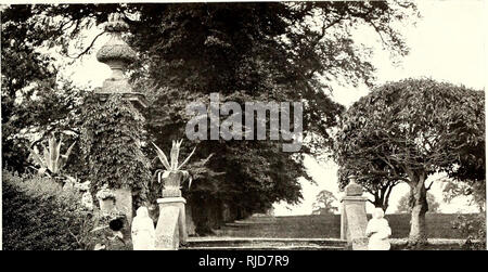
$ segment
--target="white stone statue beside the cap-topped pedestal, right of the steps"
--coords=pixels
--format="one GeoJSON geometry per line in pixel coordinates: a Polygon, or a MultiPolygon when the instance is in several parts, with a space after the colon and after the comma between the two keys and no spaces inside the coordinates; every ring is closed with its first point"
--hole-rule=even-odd
{"type": "Polygon", "coordinates": [[[375,208],[373,218],[368,222],[365,231],[365,235],[370,237],[368,250],[389,250],[388,238],[391,235],[391,229],[384,216],[382,208],[375,208]]]}

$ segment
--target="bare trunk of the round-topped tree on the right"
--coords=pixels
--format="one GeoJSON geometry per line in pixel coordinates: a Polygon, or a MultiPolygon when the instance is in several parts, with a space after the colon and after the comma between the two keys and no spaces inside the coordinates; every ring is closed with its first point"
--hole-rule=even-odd
{"type": "Polygon", "coordinates": [[[421,247],[427,244],[427,225],[425,213],[428,210],[425,173],[415,174],[410,185],[410,205],[412,218],[410,221],[409,247],[421,247]],[[415,182],[416,181],[416,182],[415,182]]]}

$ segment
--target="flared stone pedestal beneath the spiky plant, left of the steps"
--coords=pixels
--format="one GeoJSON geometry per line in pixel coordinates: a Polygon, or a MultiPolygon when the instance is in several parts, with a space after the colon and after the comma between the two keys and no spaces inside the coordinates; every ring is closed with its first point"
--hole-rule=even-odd
{"type": "Polygon", "coordinates": [[[156,250],[177,250],[180,243],[187,243],[187,223],[183,197],[157,199],[159,218],[156,225],[156,250]]]}

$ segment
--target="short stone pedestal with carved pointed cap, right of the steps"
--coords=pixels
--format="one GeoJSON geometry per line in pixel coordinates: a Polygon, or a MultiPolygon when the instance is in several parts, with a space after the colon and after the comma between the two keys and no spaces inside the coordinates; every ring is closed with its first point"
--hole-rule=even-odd
{"type": "Polygon", "coordinates": [[[346,195],[341,199],[343,204],[341,216],[341,238],[347,239],[352,250],[367,250],[368,237],[365,229],[368,218],[365,203],[368,198],[362,196],[362,187],[351,178],[346,186],[346,195]]]}

